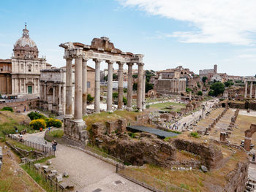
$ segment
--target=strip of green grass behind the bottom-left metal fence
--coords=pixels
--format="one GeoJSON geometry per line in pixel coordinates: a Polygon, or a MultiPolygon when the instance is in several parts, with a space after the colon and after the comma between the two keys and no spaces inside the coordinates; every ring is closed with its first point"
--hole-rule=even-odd
{"type": "MultiPolygon", "coordinates": [[[[33,166],[33,164],[31,164],[33,166]]],[[[45,191],[48,192],[53,192],[56,191],[56,188],[51,188],[50,183],[45,182],[45,177],[42,176],[39,172],[37,172],[36,169],[29,168],[29,164],[23,164],[22,169],[24,169],[32,178],[35,182],[37,182],[45,191]]]]}

